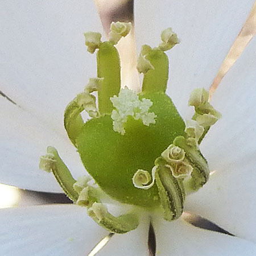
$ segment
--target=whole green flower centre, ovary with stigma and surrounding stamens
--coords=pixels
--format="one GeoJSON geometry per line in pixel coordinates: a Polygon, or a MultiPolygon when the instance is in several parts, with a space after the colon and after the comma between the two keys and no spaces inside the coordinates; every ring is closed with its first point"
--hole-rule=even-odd
{"type": "Polygon", "coordinates": [[[209,178],[207,161],[199,143],[220,114],[209,104],[204,89],[192,93],[192,120],[183,121],[165,93],[168,58],[164,51],[179,43],[171,28],[162,32],[162,43],[144,45],[138,59],[143,73],[142,91],[121,89],[120,63],[114,44],[126,36],[130,23],[112,23],[109,42],[95,32],[85,34],[88,51],[97,49],[97,79],[67,106],[64,125],[82,163],[93,177],[73,179],[53,147],[42,156],[40,168],[52,171],[64,192],[98,224],[115,233],[136,228],[134,214],[114,217],[101,203],[102,191],[113,199],[144,209],[161,208],[168,220],[179,218],[187,193],[209,178]],[[98,92],[98,102],[92,94],[98,92]],[[84,122],[81,112],[91,119],[84,122]],[[151,174],[150,174],[151,173],[151,174]]]}

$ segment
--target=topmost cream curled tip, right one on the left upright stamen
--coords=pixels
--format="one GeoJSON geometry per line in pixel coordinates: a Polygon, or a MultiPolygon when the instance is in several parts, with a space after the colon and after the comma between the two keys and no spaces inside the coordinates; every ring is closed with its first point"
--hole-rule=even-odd
{"type": "Polygon", "coordinates": [[[117,44],[118,41],[129,34],[131,22],[112,22],[110,24],[109,42],[117,44]]]}

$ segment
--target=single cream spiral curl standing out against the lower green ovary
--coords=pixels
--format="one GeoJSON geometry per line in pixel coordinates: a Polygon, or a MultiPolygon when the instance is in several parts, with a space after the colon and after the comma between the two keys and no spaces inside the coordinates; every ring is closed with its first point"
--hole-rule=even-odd
{"type": "Polygon", "coordinates": [[[151,180],[151,176],[148,171],[144,170],[138,170],[135,172],[133,176],[133,184],[135,188],[141,188],[141,189],[150,189],[152,185],[155,183],[155,172],[156,172],[156,166],[152,168],[152,182],[148,184],[151,180]],[[148,184],[148,185],[147,185],[148,184]]]}

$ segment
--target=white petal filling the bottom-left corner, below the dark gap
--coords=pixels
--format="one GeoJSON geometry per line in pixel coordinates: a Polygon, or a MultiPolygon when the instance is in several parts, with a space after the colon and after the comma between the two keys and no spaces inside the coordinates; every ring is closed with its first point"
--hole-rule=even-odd
{"type": "Polygon", "coordinates": [[[88,255],[108,235],[76,205],[0,210],[0,254],[88,255]]]}

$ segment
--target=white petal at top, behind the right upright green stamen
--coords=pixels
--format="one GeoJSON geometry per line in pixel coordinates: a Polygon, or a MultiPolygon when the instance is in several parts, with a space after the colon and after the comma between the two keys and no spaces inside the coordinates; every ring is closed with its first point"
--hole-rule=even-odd
{"type": "MultiPolygon", "coordinates": [[[[138,46],[160,43],[160,32],[172,27],[181,42],[168,52],[167,93],[185,118],[192,89],[209,88],[254,0],[162,0],[135,3],[138,46]]],[[[191,118],[191,117],[190,117],[191,118]]]]}

